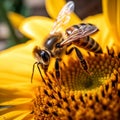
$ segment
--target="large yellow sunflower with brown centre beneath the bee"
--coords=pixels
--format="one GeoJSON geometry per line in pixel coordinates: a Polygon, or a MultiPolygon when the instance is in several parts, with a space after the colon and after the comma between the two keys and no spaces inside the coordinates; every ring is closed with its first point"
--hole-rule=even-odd
{"type": "MultiPolygon", "coordinates": [[[[50,16],[56,18],[64,0],[47,0],[50,16]],[[59,4],[59,6],[57,6],[59,4]],[[57,8],[55,7],[57,6],[57,8]]],[[[94,39],[102,55],[82,51],[89,65],[87,74],[74,53],[61,62],[61,79],[54,76],[53,65],[42,81],[36,70],[30,82],[32,51],[49,34],[53,20],[46,17],[26,18],[20,30],[31,40],[0,53],[1,120],[118,120],[120,118],[119,0],[103,1],[103,14],[82,22],[95,24],[99,32],[94,39]],[[112,9],[111,9],[112,6],[112,9]]],[[[80,23],[75,14],[70,25],[80,23]]]]}

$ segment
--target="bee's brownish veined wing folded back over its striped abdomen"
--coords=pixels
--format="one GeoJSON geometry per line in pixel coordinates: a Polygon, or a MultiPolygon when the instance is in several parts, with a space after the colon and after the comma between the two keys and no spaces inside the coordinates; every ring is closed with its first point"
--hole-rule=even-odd
{"type": "Polygon", "coordinates": [[[93,24],[80,24],[79,29],[73,31],[65,40],[60,43],[60,46],[68,45],[78,39],[87,37],[98,31],[98,28],[93,24]]]}

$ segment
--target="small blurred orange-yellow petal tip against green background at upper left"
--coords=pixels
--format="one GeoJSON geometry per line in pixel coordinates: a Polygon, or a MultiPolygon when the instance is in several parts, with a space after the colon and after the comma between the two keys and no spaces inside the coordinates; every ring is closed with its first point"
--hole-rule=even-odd
{"type": "Polygon", "coordinates": [[[8,18],[10,19],[12,25],[15,28],[18,28],[21,22],[25,19],[22,15],[17,14],[15,12],[9,12],[8,13],[8,18]]]}

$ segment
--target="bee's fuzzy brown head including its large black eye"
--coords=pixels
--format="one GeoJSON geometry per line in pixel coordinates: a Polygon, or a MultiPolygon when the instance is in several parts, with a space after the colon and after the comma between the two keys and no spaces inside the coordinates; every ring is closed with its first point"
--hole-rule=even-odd
{"type": "Polygon", "coordinates": [[[47,50],[40,49],[36,46],[33,50],[33,54],[39,63],[43,65],[48,65],[50,62],[50,55],[47,50]]]}

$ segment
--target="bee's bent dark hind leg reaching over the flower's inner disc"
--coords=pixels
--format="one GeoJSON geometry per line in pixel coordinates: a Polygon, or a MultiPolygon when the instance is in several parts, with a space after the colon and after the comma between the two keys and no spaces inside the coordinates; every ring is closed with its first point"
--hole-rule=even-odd
{"type": "Polygon", "coordinates": [[[86,62],[86,60],[84,59],[82,53],[80,52],[80,50],[79,50],[77,47],[72,47],[72,48],[70,48],[69,51],[66,51],[66,55],[69,55],[73,50],[75,50],[75,52],[76,52],[76,54],[77,54],[77,56],[78,56],[78,58],[79,58],[79,60],[80,60],[80,63],[81,63],[81,65],[82,65],[83,69],[84,69],[87,73],[89,73],[89,72],[88,72],[87,62],[86,62]]]}

